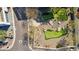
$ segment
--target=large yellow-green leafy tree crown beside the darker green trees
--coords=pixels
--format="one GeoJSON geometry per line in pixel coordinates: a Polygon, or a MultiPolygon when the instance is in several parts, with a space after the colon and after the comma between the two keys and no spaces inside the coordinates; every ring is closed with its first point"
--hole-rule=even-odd
{"type": "Polygon", "coordinates": [[[68,19],[67,10],[65,8],[54,8],[53,9],[54,19],[59,21],[65,21],[68,19]]]}

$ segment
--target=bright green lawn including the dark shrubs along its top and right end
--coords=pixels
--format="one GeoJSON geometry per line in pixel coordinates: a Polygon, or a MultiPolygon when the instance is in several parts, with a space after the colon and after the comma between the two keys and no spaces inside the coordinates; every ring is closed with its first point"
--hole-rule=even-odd
{"type": "Polygon", "coordinates": [[[44,31],[45,40],[49,40],[52,38],[59,38],[66,34],[67,34],[66,29],[61,29],[60,31],[53,31],[53,30],[48,29],[48,30],[44,31]]]}

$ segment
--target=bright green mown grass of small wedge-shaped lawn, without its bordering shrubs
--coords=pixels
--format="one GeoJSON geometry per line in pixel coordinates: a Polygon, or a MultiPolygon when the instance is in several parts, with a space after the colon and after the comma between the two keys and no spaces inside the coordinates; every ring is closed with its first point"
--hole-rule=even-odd
{"type": "Polygon", "coordinates": [[[44,34],[45,34],[46,40],[48,40],[48,39],[51,39],[51,38],[58,38],[58,37],[64,35],[65,32],[64,31],[48,31],[47,30],[47,31],[44,32],[44,34]]]}

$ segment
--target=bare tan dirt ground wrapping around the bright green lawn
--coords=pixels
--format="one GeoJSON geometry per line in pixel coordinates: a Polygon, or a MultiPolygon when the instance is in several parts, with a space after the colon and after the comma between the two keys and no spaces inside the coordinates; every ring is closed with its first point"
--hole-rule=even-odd
{"type": "Polygon", "coordinates": [[[69,35],[65,35],[59,38],[52,38],[49,40],[45,40],[45,35],[43,30],[45,29],[53,29],[49,24],[42,24],[38,27],[34,27],[33,31],[33,47],[35,48],[56,48],[60,40],[66,40],[66,44],[68,46],[73,46],[73,34],[69,33],[69,35]]]}

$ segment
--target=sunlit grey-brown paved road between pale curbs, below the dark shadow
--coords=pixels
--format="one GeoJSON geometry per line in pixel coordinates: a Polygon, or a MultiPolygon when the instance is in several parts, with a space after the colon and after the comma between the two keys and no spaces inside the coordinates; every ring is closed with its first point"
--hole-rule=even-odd
{"type": "MultiPolygon", "coordinates": [[[[21,11],[21,9],[19,9],[21,11]]],[[[23,14],[22,14],[23,15],[23,14]]],[[[15,17],[15,25],[16,25],[16,40],[14,43],[14,46],[10,51],[30,51],[28,47],[28,37],[27,37],[27,27],[24,27],[23,22],[26,22],[25,20],[18,20],[17,17],[15,17]],[[25,34],[26,33],[26,34],[25,34]],[[26,36],[24,38],[24,35],[26,36]]],[[[27,26],[27,23],[26,23],[27,26]]]]}

